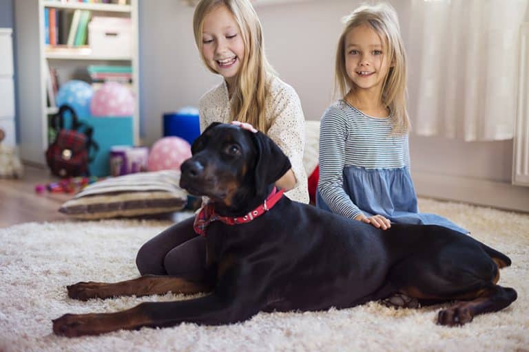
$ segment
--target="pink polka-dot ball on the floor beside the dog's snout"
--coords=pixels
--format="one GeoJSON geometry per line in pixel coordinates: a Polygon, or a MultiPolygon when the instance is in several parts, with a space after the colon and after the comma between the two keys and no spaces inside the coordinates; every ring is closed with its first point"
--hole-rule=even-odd
{"type": "Polygon", "coordinates": [[[191,146],[180,137],[163,137],[154,143],[149,153],[147,170],[180,170],[180,165],[191,157],[191,146]]]}

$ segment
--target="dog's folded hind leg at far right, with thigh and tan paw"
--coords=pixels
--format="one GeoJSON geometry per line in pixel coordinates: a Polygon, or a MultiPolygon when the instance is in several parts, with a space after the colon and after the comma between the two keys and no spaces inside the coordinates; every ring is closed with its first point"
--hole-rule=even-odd
{"type": "Polygon", "coordinates": [[[421,304],[458,301],[439,312],[440,325],[463,325],[474,316],[508,307],[517,298],[514,289],[496,285],[496,261],[475,243],[446,245],[395,265],[388,281],[397,292],[421,304]]]}

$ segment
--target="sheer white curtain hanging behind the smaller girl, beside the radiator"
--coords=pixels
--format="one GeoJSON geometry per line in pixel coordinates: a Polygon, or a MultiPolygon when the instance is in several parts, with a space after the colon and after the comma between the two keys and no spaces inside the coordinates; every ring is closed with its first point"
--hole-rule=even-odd
{"type": "Polygon", "coordinates": [[[409,112],[418,135],[512,138],[529,0],[411,0],[409,112]]]}

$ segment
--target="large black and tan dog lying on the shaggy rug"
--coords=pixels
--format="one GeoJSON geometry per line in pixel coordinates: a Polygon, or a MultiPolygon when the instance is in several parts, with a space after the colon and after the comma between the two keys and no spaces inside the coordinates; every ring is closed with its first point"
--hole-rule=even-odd
{"type": "Polygon", "coordinates": [[[399,307],[456,301],[437,315],[437,324],[455,326],[517,298],[514,289],[497,285],[499,268],[510,259],[470,236],[438,225],[395,223],[380,230],[283,196],[274,183],[291,164],[263,133],[214,123],[191,151],[180,186],[210,199],[194,224],[207,242],[203,279],[146,275],[76,283],[68,296],[210,293],[110,314],[65,314],[53,320],[54,333],[227,325],[259,311],[320,311],[371,300],[399,307]]]}

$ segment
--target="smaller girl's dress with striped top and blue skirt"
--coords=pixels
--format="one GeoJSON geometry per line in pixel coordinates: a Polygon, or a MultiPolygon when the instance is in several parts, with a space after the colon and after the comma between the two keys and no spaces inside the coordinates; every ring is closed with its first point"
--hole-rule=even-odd
{"type": "Polygon", "coordinates": [[[391,117],[373,118],[344,100],[325,111],[316,206],[349,219],[380,214],[393,223],[436,224],[467,234],[444,217],[419,212],[408,135],[392,135],[391,129],[391,117]]]}

